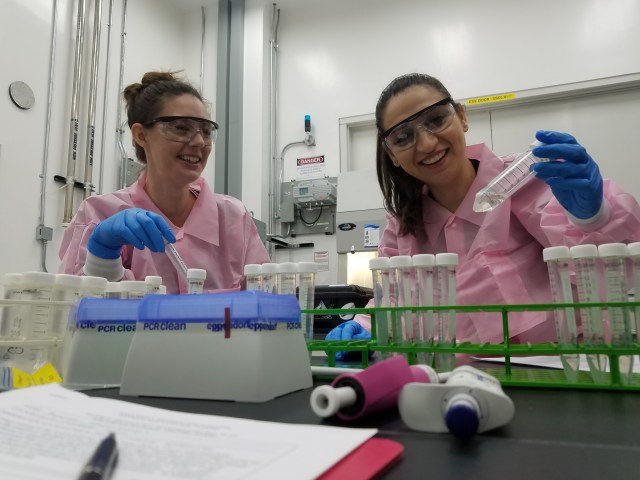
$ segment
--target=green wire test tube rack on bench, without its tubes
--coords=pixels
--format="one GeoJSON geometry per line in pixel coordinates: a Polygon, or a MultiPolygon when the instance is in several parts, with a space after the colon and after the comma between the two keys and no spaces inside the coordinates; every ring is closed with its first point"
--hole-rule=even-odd
{"type": "Polygon", "coordinates": [[[638,390],[640,391],[640,372],[631,375],[628,382],[622,381],[620,374],[620,357],[633,357],[640,355],[640,344],[633,343],[628,346],[614,346],[604,344],[588,346],[579,344],[575,347],[559,346],[557,343],[541,344],[512,344],[509,341],[509,315],[523,311],[551,311],[557,308],[585,308],[597,307],[625,308],[629,312],[640,307],[640,302],[598,302],[598,303],[570,303],[570,304],[514,304],[514,305],[457,305],[457,306],[428,306],[428,307],[377,307],[377,308],[352,308],[352,309],[323,309],[302,310],[303,313],[317,315],[345,315],[368,314],[371,315],[371,340],[340,341],[340,340],[311,340],[307,342],[309,351],[323,351],[327,353],[328,365],[336,365],[335,353],[339,351],[361,352],[361,367],[366,368],[375,357],[370,358],[372,352],[390,352],[404,354],[410,364],[416,363],[418,352],[443,352],[467,354],[472,356],[504,357],[503,364],[487,363],[487,367],[477,368],[484,370],[498,378],[504,386],[514,387],[547,387],[547,388],[574,388],[574,389],[603,389],[603,390],[638,390]],[[391,312],[390,321],[400,321],[400,313],[404,311],[418,312],[430,310],[433,312],[455,309],[458,313],[498,312],[502,317],[503,343],[500,344],[474,344],[457,343],[454,346],[443,346],[434,342],[425,344],[389,344],[379,345],[376,341],[375,315],[378,312],[391,312]],[[562,354],[598,354],[609,358],[609,372],[603,376],[601,382],[594,382],[589,371],[580,371],[576,382],[568,382],[562,369],[543,367],[528,367],[514,365],[513,357],[522,356],[559,356],[562,354]]]}

